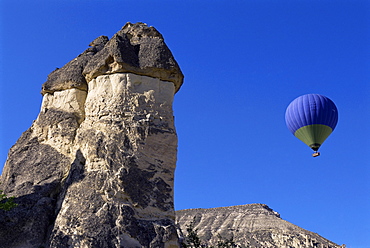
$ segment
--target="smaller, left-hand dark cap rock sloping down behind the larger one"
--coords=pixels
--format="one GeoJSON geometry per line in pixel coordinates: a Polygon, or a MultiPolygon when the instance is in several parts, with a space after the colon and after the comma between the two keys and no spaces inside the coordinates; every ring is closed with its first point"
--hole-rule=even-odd
{"type": "Polygon", "coordinates": [[[91,47],[78,55],[77,58],[67,63],[62,68],[57,68],[51,72],[47,81],[42,85],[41,94],[44,95],[45,93],[54,93],[55,91],[71,88],[87,91],[87,82],[82,75],[82,71],[87,62],[100,51],[107,42],[107,36],[99,36],[90,43],[91,47]]]}

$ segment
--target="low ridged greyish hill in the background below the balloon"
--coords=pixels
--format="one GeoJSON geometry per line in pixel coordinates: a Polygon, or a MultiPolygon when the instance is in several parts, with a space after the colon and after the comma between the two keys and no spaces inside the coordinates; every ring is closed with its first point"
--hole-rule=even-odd
{"type": "Polygon", "coordinates": [[[218,236],[221,236],[223,239],[233,238],[239,247],[342,247],[281,219],[264,204],[180,210],[176,211],[176,222],[184,234],[186,225],[194,222],[199,237],[211,245],[216,245],[218,236]]]}

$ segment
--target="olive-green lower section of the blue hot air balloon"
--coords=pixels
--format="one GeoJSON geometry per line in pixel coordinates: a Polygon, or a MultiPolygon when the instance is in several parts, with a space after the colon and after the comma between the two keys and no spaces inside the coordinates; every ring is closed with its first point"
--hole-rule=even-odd
{"type": "Polygon", "coordinates": [[[314,124],[301,127],[295,131],[294,136],[310,146],[320,146],[326,138],[333,132],[331,127],[322,124],[314,124]]]}

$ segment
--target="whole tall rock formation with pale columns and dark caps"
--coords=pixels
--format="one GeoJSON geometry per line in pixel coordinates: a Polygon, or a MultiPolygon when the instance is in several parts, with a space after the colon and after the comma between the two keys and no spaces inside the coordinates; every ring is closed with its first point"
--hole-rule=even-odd
{"type": "Polygon", "coordinates": [[[143,23],[50,73],[4,166],[1,188],[18,206],[1,212],[1,247],[178,247],[172,101],[182,82],[143,23]]]}

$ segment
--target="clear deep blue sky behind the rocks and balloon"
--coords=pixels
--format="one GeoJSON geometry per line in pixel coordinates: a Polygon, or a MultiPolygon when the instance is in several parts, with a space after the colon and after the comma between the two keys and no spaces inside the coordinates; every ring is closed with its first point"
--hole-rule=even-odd
{"type": "Polygon", "coordinates": [[[370,247],[369,1],[2,0],[0,16],[1,164],[36,119],[51,71],[145,22],[185,74],[176,209],[265,203],[333,242],[370,247]],[[318,158],[284,121],[307,93],[339,110],[318,158]]]}

